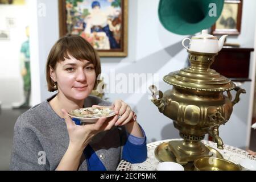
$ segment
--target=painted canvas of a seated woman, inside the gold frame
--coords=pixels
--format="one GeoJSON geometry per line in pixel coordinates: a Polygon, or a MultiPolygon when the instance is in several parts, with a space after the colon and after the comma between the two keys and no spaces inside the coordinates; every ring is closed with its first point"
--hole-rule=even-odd
{"type": "Polygon", "coordinates": [[[67,29],[96,49],[121,48],[121,0],[66,0],[67,29]]]}

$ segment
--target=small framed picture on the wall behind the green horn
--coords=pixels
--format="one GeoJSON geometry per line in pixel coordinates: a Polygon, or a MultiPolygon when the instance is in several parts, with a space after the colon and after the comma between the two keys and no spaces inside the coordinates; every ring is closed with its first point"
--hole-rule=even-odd
{"type": "Polygon", "coordinates": [[[239,35],[241,32],[242,0],[225,0],[220,18],[212,26],[213,35],[239,35]]]}

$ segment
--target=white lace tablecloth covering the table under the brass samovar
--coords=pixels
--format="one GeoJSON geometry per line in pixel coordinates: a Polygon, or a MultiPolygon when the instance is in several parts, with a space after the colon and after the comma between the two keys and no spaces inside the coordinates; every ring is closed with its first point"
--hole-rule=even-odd
{"type": "MultiPolygon", "coordinates": [[[[168,142],[171,140],[181,140],[181,139],[167,139],[167,140],[160,140],[152,143],[147,144],[147,160],[143,163],[139,164],[131,164],[127,162],[126,160],[121,160],[121,162],[118,164],[117,171],[156,171],[156,166],[158,163],[158,159],[155,158],[155,148],[163,143],[168,142]]],[[[217,151],[219,151],[224,159],[229,160],[235,164],[240,163],[240,160],[242,159],[252,159],[256,160],[256,156],[250,155],[247,151],[242,150],[237,147],[229,146],[228,144],[224,144],[224,150],[220,150],[217,148],[217,144],[208,140],[202,140],[206,146],[213,147],[217,151]]]]}

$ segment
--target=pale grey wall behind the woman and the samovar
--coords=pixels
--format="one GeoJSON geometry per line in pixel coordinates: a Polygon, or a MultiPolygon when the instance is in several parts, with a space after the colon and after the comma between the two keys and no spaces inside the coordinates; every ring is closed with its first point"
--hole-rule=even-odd
{"type": "MultiPolygon", "coordinates": [[[[158,19],[159,0],[130,0],[129,1],[129,28],[128,28],[128,56],[127,57],[103,57],[101,58],[102,72],[110,77],[111,73],[151,73],[156,74],[159,80],[159,88],[162,91],[171,89],[162,81],[162,77],[169,72],[179,70],[187,66],[187,52],[181,46],[181,41],[187,36],[172,34],[165,30],[158,19]]],[[[42,5],[46,7],[45,16],[36,16],[34,20],[34,82],[32,88],[39,89],[32,94],[35,99],[32,105],[45,100],[53,93],[47,92],[45,80],[45,64],[49,49],[59,38],[58,6],[57,1],[37,0],[34,6],[34,15],[42,11],[42,5]],[[40,6],[39,6],[40,5],[40,6]],[[37,95],[36,95],[37,94],[37,95]]],[[[253,47],[255,37],[254,8],[256,1],[245,0],[243,2],[241,35],[228,38],[229,42],[240,43],[243,47],[253,47]]],[[[251,55],[250,78],[254,81],[255,70],[253,54],[251,55]]],[[[1,62],[2,64],[2,62],[1,62]]],[[[118,80],[116,80],[118,83],[118,80]]],[[[141,84],[146,88],[151,84],[150,78],[141,84]]],[[[224,143],[236,147],[245,147],[249,141],[247,130],[250,127],[251,106],[253,98],[253,82],[240,83],[245,88],[246,95],[241,96],[241,101],[234,107],[230,121],[220,129],[220,136],[224,143]]],[[[234,94],[234,93],[233,93],[234,94]]],[[[5,96],[9,96],[6,93],[5,96]]],[[[137,112],[138,122],[143,126],[147,134],[148,142],[155,140],[179,138],[178,131],[172,125],[171,119],[160,114],[158,109],[151,103],[150,94],[146,93],[108,93],[105,95],[110,101],[121,98],[137,112]]],[[[0,100],[3,98],[0,97],[0,100]]]]}

